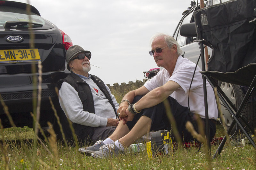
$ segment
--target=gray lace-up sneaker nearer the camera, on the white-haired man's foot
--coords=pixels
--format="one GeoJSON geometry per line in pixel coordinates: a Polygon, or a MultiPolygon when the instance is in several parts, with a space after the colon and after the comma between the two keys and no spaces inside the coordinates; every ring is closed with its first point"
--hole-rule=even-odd
{"type": "Polygon", "coordinates": [[[124,154],[123,151],[119,150],[115,144],[106,144],[100,147],[100,151],[93,152],[91,156],[93,158],[108,158],[112,156],[117,156],[118,154],[124,154]]]}

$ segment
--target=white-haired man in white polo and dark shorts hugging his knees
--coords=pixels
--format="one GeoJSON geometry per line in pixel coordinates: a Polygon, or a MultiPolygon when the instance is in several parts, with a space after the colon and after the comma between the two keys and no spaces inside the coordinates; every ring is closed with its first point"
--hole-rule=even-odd
{"type": "MultiPolygon", "coordinates": [[[[194,121],[194,114],[198,114],[205,129],[204,92],[200,68],[196,67],[186,58],[181,56],[181,49],[177,41],[165,34],[157,34],[152,38],[150,55],[159,67],[155,77],[142,87],[128,92],[117,110],[120,118],[115,132],[103,141],[103,145],[93,145],[88,150],[93,150],[91,156],[104,158],[124,153],[124,148],[130,146],[138,138],[152,130],[172,130],[172,124],[166,115],[163,101],[168,101],[172,115],[177,125],[177,130],[183,141],[194,140],[185,128],[186,122],[194,121]],[[194,70],[196,73],[190,88],[194,70]],[[188,109],[188,93],[190,100],[188,109]]],[[[217,105],[212,87],[207,84],[208,107],[211,140],[215,135],[214,122],[218,117],[217,105]]],[[[197,124],[194,124],[196,128],[197,124]]],[[[175,134],[174,134],[175,135],[175,134]]],[[[174,140],[178,140],[174,136],[174,140]]]]}

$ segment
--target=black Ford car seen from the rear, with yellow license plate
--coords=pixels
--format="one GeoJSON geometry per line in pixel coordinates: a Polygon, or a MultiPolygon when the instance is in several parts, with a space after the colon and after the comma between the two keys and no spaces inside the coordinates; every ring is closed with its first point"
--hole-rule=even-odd
{"type": "MultiPolygon", "coordinates": [[[[42,18],[34,6],[0,0],[0,44],[0,94],[15,125],[33,126],[30,113],[36,112],[39,62],[42,63],[40,124],[46,127],[48,121],[54,123],[49,97],[54,107],[61,109],[55,86],[68,73],[65,54],[73,45],[69,36],[42,18]]],[[[5,112],[0,104],[4,128],[12,127],[5,112]]]]}

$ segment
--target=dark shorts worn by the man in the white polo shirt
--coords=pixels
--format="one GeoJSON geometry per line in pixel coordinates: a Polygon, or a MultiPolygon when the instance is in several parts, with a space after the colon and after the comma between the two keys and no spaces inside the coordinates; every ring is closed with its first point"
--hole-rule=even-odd
{"type": "MultiPolygon", "coordinates": [[[[142,98],[142,96],[136,96],[133,100],[133,103],[136,103],[142,98]]],[[[194,140],[194,138],[191,136],[190,132],[185,127],[185,124],[187,121],[190,121],[194,125],[194,129],[197,131],[197,121],[193,123],[193,113],[189,113],[188,107],[181,106],[177,100],[173,99],[172,97],[167,98],[170,107],[172,115],[175,119],[177,130],[179,132],[179,135],[183,141],[189,141],[194,140]]],[[[156,106],[142,109],[140,113],[136,114],[134,119],[131,122],[127,122],[128,128],[131,130],[133,126],[138,122],[141,116],[147,116],[149,117],[151,122],[151,128],[150,131],[157,131],[161,129],[172,131],[172,124],[169,121],[169,118],[166,115],[165,107],[163,102],[157,104],[156,106]]],[[[202,119],[203,122],[204,119],[202,119]]],[[[205,124],[205,123],[203,123],[205,124]]],[[[203,125],[204,131],[205,131],[205,125],[203,125]]],[[[214,137],[216,132],[216,126],[213,122],[210,121],[210,139],[212,141],[212,138],[214,137]]],[[[175,137],[174,137],[175,140],[175,137]]]]}

